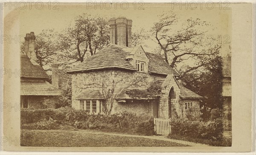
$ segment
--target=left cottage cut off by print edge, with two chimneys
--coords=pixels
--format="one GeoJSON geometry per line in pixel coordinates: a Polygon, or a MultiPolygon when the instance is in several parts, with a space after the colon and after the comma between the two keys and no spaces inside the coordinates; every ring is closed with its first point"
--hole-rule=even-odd
{"type": "Polygon", "coordinates": [[[35,35],[26,34],[24,54],[20,55],[20,107],[22,109],[55,108],[54,103],[61,95],[58,89],[58,65],[52,65],[52,84],[47,82],[49,76],[35,62],[35,35]]]}

